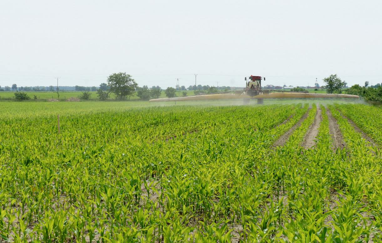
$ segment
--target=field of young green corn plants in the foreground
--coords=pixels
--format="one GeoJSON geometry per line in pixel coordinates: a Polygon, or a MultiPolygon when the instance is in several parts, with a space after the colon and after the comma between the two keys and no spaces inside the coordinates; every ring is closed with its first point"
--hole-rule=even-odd
{"type": "Polygon", "coordinates": [[[94,104],[0,111],[2,241],[382,241],[381,108],[94,104]]]}

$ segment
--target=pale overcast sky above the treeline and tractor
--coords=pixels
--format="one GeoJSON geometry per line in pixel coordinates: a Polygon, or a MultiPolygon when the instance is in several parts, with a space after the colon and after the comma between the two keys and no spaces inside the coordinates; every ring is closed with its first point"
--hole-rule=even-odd
{"type": "Polygon", "coordinates": [[[0,85],[382,82],[382,1],[0,0],[0,85]]]}

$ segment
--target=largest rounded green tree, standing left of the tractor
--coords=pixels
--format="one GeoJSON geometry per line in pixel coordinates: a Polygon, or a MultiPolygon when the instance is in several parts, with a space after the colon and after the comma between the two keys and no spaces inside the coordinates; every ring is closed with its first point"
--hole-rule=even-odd
{"type": "Polygon", "coordinates": [[[124,99],[126,96],[133,95],[136,87],[138,87],[131,75],[122,72],[108,76],[107,84],[110,87],[110,92],[113,92],[117,99],[124,99]]]}

